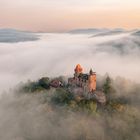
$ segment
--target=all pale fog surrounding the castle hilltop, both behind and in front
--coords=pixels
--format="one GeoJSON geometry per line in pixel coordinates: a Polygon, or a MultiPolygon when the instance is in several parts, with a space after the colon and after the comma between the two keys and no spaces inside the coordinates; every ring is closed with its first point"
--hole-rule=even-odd
{"type": "Polygon", "coordinates": [[[0,43],[0,139],[139,140],[140,90],[133,83],[140,82],[139,36],[129,32],[97,37],[37,35],[38,41],[0,43]],[[77,63],[85,72],[93,68],[99,75],[109,73],[113,77],[115,96],[130,101],[123,114],[90,116],[53,107],[49,99],[44,102],[43,94],[15,94],[9,90],[28,79],[72,75],[77,63]]]}

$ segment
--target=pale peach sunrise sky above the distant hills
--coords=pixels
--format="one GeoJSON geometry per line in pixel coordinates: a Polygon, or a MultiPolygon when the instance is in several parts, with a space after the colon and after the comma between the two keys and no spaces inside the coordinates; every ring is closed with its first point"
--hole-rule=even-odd
{"type": "Polygon", "coordinates": [[[140,0],[0,0],[0,28],[140,28],[140,0]]]}

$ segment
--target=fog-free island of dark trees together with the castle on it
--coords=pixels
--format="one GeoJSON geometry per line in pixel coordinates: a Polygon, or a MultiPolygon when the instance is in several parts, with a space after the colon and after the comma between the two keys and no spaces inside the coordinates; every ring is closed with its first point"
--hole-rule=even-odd
{"type": "Polygon", "coordinates": [[[41,93],[46,95],[47,97],[49,95],[49,102],[51,104],[53,103],[56,106],[67,106],[72,110],[82,109],[84,111],[88,111],[89,113],[97,113],[100,111],[107,111],[108,113],[114,111],[122,112],[126,109],[128,101],[125,97],[115,96],[115,92],[117,91],[115,89],[115,86],[113,85],[113,79],[106,75],[104,80],[102,81],[102,84],[99,84],[97,81],[96,86],[95,78],[92,86],[94,89],[93,90],[91,84],[89,83],[89,80],[91,80],[90,77],[92,76],[92,74],[93,76],[96,76],[96,74],[91,70],[89,75],[83,74],[81,72],[81,66],[77,65],[73,78],[62,76],[56,78],[42,77],[38,81],[28,81],[25,84],[21,84],[17,92],[26,94],[41,93]],[[75,76],[78,79],[76,79],[75,76]],[[82,79],[81,76],[83,76],[82,79]],[[84,81],[84,79],[86,81],[84,81]]]}

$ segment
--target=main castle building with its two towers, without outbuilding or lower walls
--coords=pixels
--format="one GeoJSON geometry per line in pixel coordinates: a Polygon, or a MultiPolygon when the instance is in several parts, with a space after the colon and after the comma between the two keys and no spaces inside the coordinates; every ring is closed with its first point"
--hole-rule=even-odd
{"type": "Polygon", "coordinates": [[[94,93],[96,91],[96,73],[89,71],[89,74],[83,73],[83,68],[80,64],[74,69],[74,77],[68,79],[68,85],[70,87],[78,88],[81,93],[94,93]]]}

